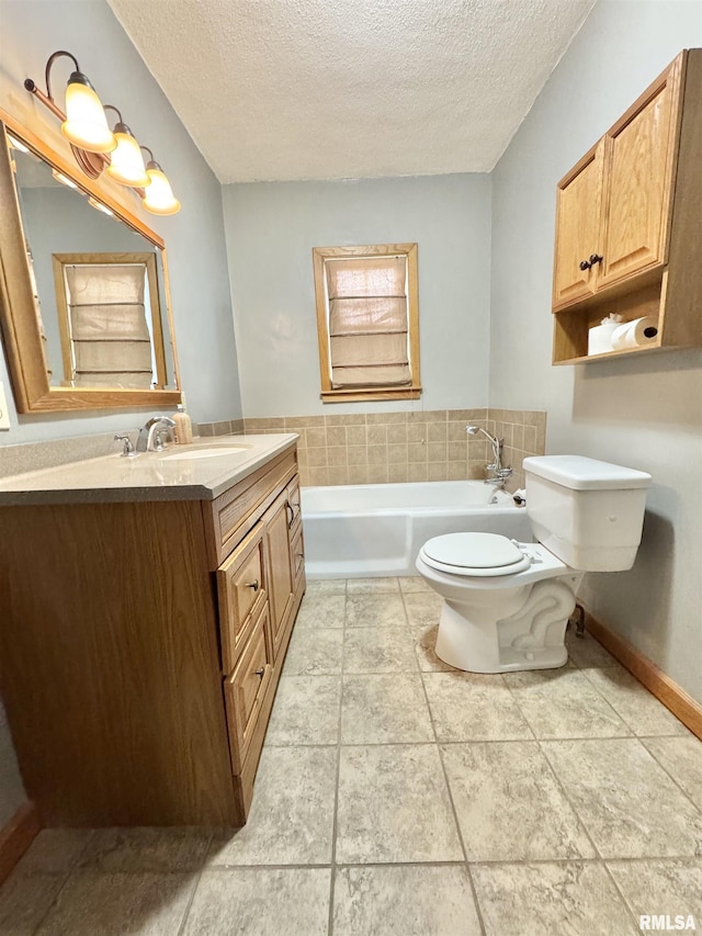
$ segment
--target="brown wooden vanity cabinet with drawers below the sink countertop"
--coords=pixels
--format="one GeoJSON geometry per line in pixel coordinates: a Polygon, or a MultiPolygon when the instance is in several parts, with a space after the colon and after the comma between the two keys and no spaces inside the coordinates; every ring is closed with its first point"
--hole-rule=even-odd
{"type": "Polygon", "coordinates": [[[288,449],[214,501],[0,506],[1,690],[46,825],[246,822],[305,588],[296,490],[288,449]]]}

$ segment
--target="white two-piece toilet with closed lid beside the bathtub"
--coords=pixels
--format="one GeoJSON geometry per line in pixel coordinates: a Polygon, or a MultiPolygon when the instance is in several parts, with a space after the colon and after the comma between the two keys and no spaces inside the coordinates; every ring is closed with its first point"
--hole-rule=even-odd
{"type": "Polygon", "coordinates": [[[449,533],[417,557],[444,599],[437,656],[469,673],[564,666],[582,576],[631,568],[641,542],[646,472],[580,455],[526,458],[523,467],[536,542],[449,533]]]}

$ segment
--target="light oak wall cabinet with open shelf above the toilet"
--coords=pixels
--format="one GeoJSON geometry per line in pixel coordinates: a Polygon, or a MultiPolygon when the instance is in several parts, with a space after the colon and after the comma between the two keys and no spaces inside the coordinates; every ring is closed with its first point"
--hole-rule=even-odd
{"type": "Polygon", "coordinates": [[[682,52],[561,180],[553,362],[702,345],[702,49],[682,52]],[[656,341],[588,357],[609,313],[656,341]]]}

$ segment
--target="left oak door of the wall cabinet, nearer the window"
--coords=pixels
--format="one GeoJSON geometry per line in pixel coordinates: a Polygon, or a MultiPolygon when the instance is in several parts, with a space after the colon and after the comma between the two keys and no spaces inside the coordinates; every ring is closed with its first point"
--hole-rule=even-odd
{"type": "Polygon", "coordinates": [[[603,140],[600,140],[558,183],[553,280],[555,308],[595,292],[598,270],[597,262],[592,264],[590,257],[600,248],[603,151],[603,140]]]}

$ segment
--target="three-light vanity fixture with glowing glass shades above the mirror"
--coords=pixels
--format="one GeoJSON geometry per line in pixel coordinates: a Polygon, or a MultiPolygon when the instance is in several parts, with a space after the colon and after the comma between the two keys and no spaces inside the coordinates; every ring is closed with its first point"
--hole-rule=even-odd
{"type": "Polygon", "coordinates": [[[170,182],[154,159],[151,150],[139,146],[117,108],[112,104],[103,108],[71,53],[63,49],[53,53],[46,63],[45,79],[46,93],[37,88],[32,78],[25,79],[24,87],[61,121],[61,134],[70,142],[76,161],[86,176],[98,179],[106,167],[107,176],[136,191],[141,198],[141,204],[151,214],[169,215],[180,211],[180,202],[174,198],[170,182]],[[61,56],[70,58],[76,69],[68,79],[66,113],[54,100],[50,86],[52,66],[61,56]],[[114,131],[107,125],[105,110],[117,114],[114,131]],[[146,167],[141,149],[146,149],[151,157],[146,167]]]}

